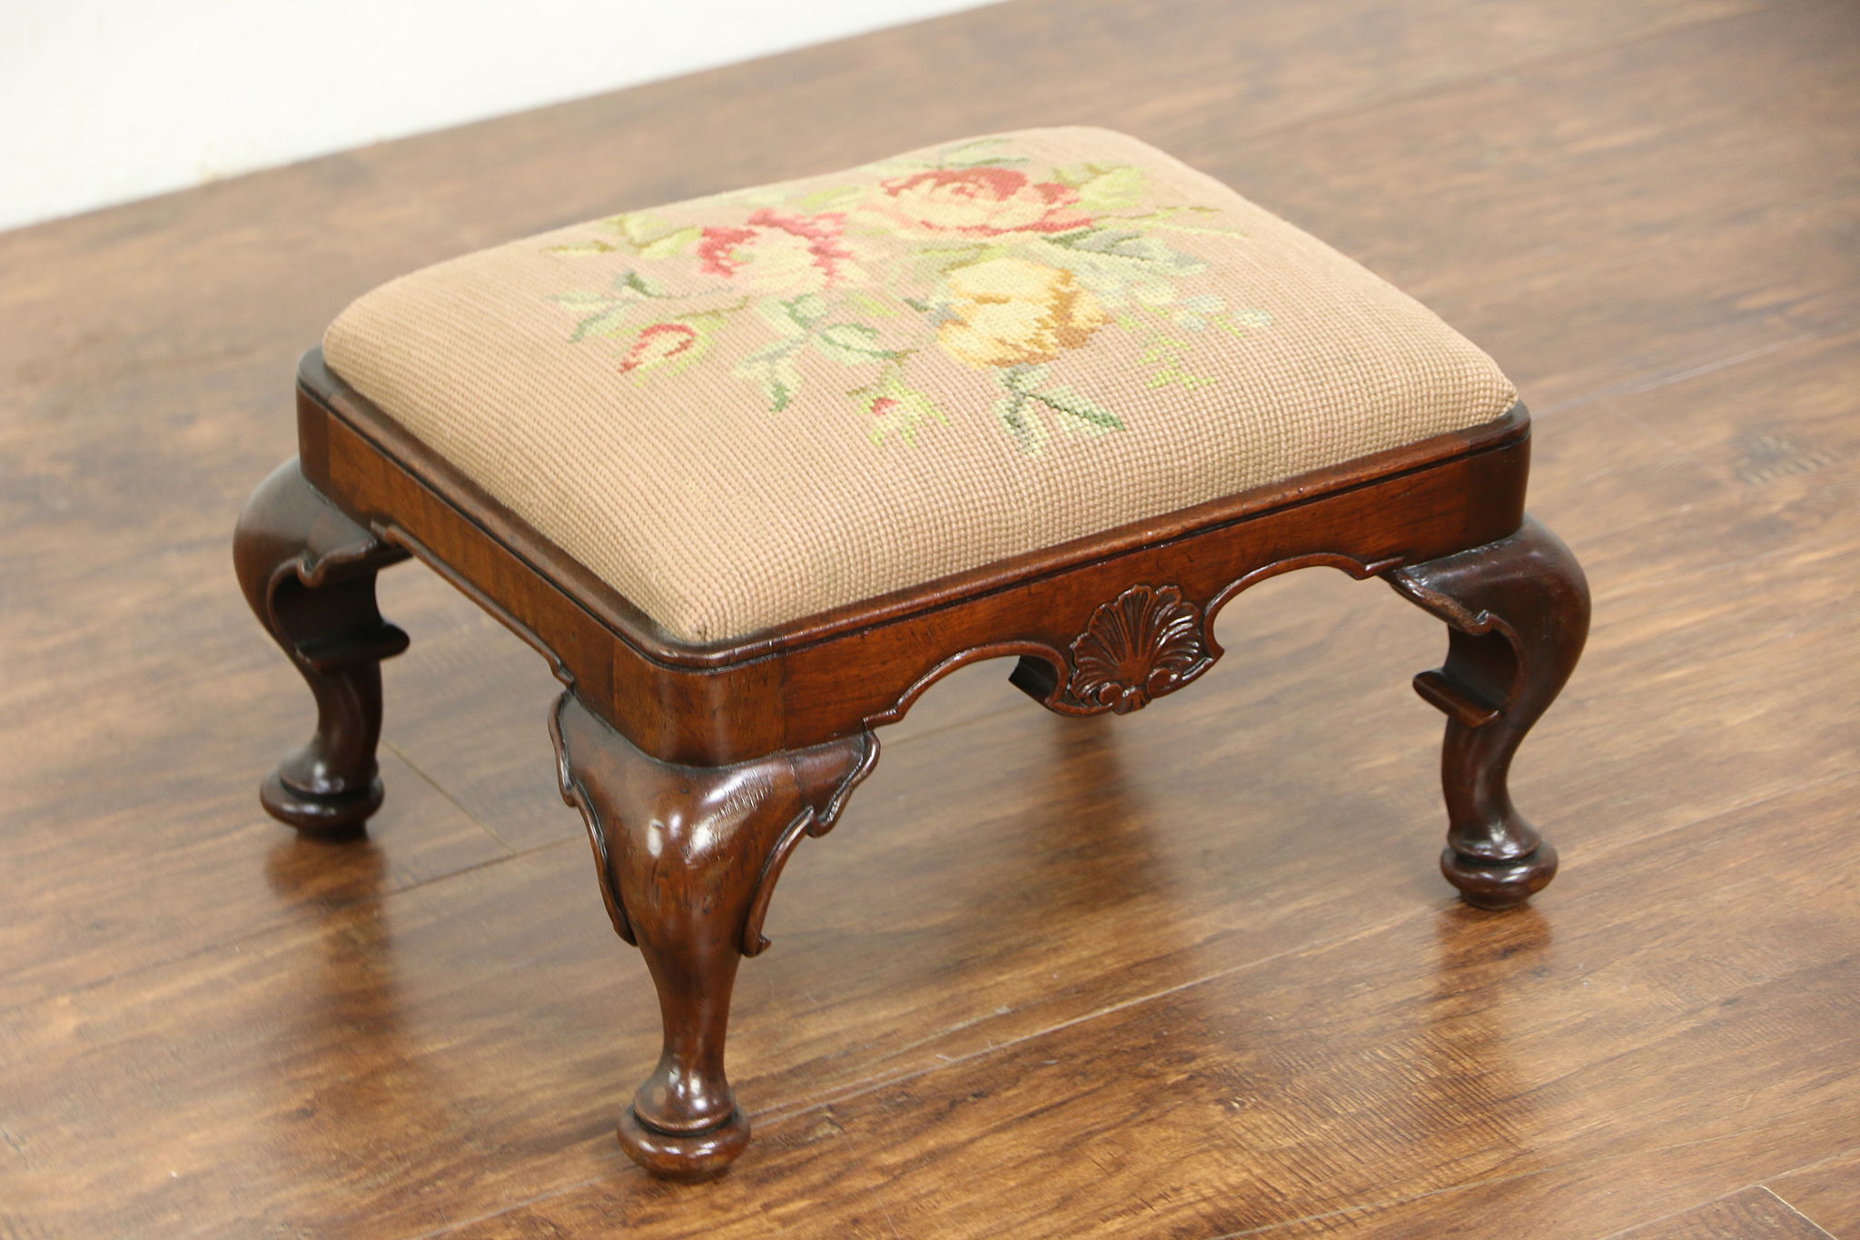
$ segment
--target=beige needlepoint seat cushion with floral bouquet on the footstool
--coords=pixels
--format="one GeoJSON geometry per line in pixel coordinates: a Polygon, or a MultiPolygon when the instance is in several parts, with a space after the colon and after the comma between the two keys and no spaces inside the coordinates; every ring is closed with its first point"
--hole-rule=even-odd
{"type": "Polygon", "coordinates": [[[1135,138],[1043,128],[402,277],[329,366],[720,641],[1501,416],[1492,359],[1135,138]]]}

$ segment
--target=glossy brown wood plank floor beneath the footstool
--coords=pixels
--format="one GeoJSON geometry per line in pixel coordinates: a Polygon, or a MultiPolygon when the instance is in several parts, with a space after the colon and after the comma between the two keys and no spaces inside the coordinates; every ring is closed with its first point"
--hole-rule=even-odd
{"type": "MultiPolygon", "coordinates": [[[[616,35],[618,37],[618,35],[616,35]]],[[[279,82],[316,106],[318,82],[279,82]]],[[[1860,1236],[1860,7],[1016,0],[0,234],[0,1236],[1860,1236]],[[1434,874],[1442,630],[1300,573],[1129,719],[967,669],[742,974],[757,1143],[666,1186],[547,669],[420,569],[374,840],[232,515],[355,294],[939,138],[1136,132],[1538,413],[1590,654],[1520,915],[1434,874]]]]}

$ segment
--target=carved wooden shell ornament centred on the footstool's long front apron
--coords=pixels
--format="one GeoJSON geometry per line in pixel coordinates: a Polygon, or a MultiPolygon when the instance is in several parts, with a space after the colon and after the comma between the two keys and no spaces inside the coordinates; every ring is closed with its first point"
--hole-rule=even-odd
{"type": "Polygon", "coordinates": [[[1092,612],[1071,643],[1068,690],[1086,706],[1129,714],[1179,690],[1213,664],[1202,608],[1176,586],[1131,586],[1092,612]]]}

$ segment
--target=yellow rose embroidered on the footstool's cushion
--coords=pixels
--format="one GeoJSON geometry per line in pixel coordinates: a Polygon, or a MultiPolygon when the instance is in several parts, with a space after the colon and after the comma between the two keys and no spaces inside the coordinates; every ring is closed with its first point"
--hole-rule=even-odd
{"type": "Polygon", "coordinates": [[[1071,271],[1027,258],[990,258],[947,279],[956,318],[937,344],[982,370],[1053,361],[1110,322],[1071,271]]]}

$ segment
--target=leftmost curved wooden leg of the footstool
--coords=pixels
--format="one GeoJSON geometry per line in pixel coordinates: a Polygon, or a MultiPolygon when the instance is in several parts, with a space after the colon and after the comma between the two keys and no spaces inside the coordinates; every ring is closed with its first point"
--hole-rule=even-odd
{"type": "Polygon", "coordinates": [[[350,835],[381,805],[381,660],[407,634],[381,619],[374,576],[405,560],[342,515],[296,459],[259,483],[232,535],[246,600],[316,695],[316,734],[286,757],[259,796],[273,818],[318,835],[350,835]]]}

